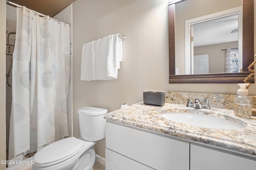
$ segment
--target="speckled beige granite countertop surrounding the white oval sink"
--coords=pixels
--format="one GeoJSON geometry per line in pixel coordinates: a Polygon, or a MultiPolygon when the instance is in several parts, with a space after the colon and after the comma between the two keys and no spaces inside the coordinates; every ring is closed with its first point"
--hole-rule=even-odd
{"type": "Polygon", "coordinates": [[[230,109],[194,109],[181,104],[168,103],[159,107],[145,105],[143,102],[139,102],[107,113],[104,118],[108,121],[115,121],[184,139],[256,155],[256,118],[245,119],[237,117],[234,115],[234,111],[230,109]],[[246,127],[230,130],[195,127],[170,121],[160,116],[162,113],[167,112],[206,114],[229,119],[246,127]]]}

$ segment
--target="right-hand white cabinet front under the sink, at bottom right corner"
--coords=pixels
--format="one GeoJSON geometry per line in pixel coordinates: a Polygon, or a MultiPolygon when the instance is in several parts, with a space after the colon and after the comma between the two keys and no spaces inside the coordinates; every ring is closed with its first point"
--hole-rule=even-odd
{"type": "Polygon", "coordinates": [[[191,143],[190,170],[256,170],[256,161],[249,156],[191,143]]]}

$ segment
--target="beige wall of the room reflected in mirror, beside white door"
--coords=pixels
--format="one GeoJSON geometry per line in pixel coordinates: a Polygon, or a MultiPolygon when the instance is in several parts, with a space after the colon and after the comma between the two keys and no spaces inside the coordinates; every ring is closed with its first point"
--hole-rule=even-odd
{"type": "Polygon", "coordinates": [[[194,55],[209,55],[209,73],[225,72],[227,48],[238,48],[238,41],[194,47],[194,55]]]}

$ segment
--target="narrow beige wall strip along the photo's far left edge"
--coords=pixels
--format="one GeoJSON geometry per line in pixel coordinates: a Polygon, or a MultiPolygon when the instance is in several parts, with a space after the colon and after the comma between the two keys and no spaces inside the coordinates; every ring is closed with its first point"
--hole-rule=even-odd
{"type": "MultiPolygon", "coordinates": [[[[6,159],[6,135],[5,135],[5,25],[6,25],[6,1],[0,0],[0,160],[6,159]]],[[[5,165],[0,164],[0,169],[5,165]]]]}

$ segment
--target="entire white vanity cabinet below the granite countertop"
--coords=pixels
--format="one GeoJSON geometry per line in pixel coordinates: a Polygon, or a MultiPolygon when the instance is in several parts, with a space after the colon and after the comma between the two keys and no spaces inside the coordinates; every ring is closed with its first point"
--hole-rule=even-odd
{"type": "Polygon", "coordinates": [[[106,170],[256,170],[256,158],[108,121],[106,170]]]}

